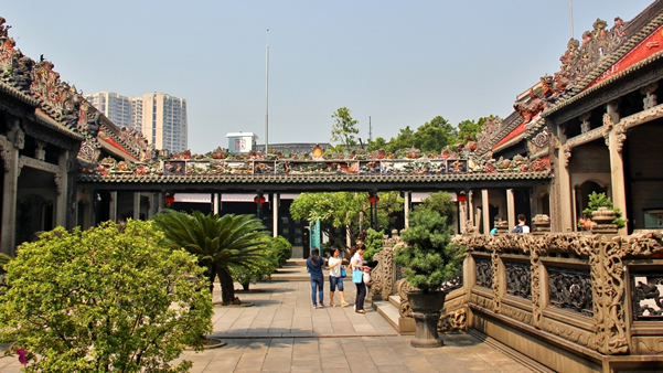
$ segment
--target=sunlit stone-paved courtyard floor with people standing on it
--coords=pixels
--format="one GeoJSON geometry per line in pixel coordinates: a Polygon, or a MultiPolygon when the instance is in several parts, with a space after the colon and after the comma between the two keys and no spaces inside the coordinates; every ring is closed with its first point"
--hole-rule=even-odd
{"type": "MultiPolygon", "coordinates": [[[[347,281],[350,283],[350,281],[347,281]]],[[[329,305],[325,283],[325,305],[329,305]]],[[[238,292],[254,307],[215,306],[214,332],[227,345],[186,351],[192,372],[528,372],[506,354],[470,334],[445,334],[440,349],[414,349],[376,311],[350,307],[313,309],[307,281],[252,286],[238,292]]],[[[218,288],[215,300],[220,300],[218,288]]],[[[368,302],[366,302],[368,306],[368,302]]],[[[0,358],[0,373],[19,372],[17,358],[0,358]]]]}

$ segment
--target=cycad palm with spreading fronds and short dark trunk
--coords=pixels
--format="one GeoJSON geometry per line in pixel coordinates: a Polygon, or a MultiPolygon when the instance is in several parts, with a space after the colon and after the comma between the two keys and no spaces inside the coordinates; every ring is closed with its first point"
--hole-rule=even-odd
{"type": "Polygon", "coordinates": [[[154,216],[172,248],[184,248],[197,256],[199,265],[205,267],[210,291],[218,276],[224,305],[235,300],[231,270],[240,271],[252,265],[268,260],[263,249],[268,237],[263,223],[254,215],[207,215],[200,211],[192,214],[164,210],[154,216]]]}

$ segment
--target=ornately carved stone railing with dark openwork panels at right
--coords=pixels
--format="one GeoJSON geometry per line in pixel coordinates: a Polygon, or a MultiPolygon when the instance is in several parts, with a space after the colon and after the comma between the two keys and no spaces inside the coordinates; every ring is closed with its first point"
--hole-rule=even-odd
{"type": "Polygon", "coordinates": [[[468,247],[472,312],[618,355],[663,353],[661,238],[539,233],[457,241],[468,247]]]}

